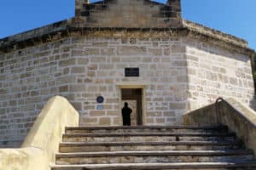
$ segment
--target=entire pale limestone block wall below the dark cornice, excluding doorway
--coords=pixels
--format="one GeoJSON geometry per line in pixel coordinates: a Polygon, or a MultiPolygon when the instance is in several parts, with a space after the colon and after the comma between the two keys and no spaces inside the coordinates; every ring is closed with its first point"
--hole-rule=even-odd
{"type": "Polygon", "coordinates": [[[0,146],[19,146],[56,94],[83,126],[122,124],[120,84],[143,84],[144,125],[179,124],[218,96],[253,99],[248,56],[166,31],[88,31],[0,54],[0,80],[0,146]],[[140,77],[125,77],[126,67],[140,77]]]}

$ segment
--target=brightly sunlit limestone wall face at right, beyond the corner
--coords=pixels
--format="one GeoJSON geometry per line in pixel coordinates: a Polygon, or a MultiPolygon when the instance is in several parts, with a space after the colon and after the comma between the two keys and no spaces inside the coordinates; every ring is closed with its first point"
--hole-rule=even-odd
{"type": "MultiPolygon", "coordinates": [[[[253,101],[250,57],[244,54],[184,38],[189,78],[189,110],[234,97],[246,105],[253,101]]],[[[253,105],[251,105],[253,106],[253,105]]]]}

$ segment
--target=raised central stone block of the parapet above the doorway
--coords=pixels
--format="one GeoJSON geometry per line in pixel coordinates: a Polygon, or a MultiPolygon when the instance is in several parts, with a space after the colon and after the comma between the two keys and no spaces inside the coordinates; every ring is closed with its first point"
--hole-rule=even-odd
{"type": "Polygon", "coordinates": [[[76,27],[177,28],[182,26],[180,0],[76,0],[76,27]]]}

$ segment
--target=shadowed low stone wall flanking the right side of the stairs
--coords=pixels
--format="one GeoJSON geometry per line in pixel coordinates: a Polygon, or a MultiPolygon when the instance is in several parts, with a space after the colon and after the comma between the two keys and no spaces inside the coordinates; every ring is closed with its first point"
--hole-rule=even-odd
{"type": "Polygon", "coordinates": [[[248,149],[256,153],[256,113],[247,105],[241,104],[236,99],[230,98],[218,103],[218,118],[215,105],[207,105],[197,111],[183,115],[185,125],[217,125],[229,127],[231,132],[236,133],[248,149]]]}

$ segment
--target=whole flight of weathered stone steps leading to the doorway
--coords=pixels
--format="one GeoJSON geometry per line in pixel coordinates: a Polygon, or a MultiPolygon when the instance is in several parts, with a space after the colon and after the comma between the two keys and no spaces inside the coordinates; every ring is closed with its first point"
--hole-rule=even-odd
{"type": "Polygon", "coordinates": [[[255,170],[227,127],[67,127],[52,170],[255,170]]]}

